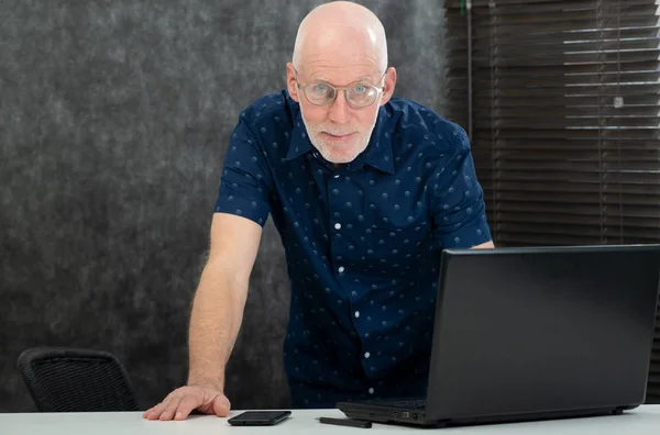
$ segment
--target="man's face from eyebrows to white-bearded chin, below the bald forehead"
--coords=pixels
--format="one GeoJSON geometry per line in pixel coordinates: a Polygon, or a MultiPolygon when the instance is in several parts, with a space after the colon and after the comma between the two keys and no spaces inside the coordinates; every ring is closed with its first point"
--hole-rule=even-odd
{"type": "MultiPolygon", "coordinates": [[[[388,76],[383,76],[373,66],[322,68],[312,65],[300,71],[296,71],[293,66],[289,69],[289,91],[292,86],[295,91],[289,93],[300,103],[302,121],[311,144],[328,161],[343,164],[355,159],[369,144],[378,107],[389,99],[386,86],[388,76]],[[299,89],[298,83],[305,90],[299,89]],[[334,101],[329,105],[314,104],[314,96],[331,92],[329,86],[348,87],[350,90],[337,90],[334,101]],[[372,86],[375,88],[372,89],[372,86]],[[386,92],[383,92],[384,87],[386,92]],[[377,88],[380,89],[375,91],[377,88]],[[356,108],[346,100],[346,92],[352,101],[359,103],[364,92],[372,91],[376,92],[375,99],[367,107],[356,108]]],[[[319,101],[320,98],[316,100],[317,103],[319,101]]]]}

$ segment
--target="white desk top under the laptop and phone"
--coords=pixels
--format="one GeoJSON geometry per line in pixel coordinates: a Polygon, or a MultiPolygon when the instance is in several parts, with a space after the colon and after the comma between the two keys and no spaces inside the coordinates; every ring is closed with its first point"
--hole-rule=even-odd
{"type": "MultiPolygon", "coordinates": [[[[241,411],[232,411],[234,416],[241,411]]],[[[2,435],[223,435],[223,434],[272,434],[338,435],[351,434],[415,434],[428,433],[402,426],[374,424],[372,428],[345,427],[321,424],[318,416],[343,417],[338,410],[293,410],[292,416],[276,426],[233,427],[227,419],[213,415],[194,415],[189,420],[175,422],[146,421],[142,413],[15,413],[0,414],[2,435]],[[340,432],[342,431],[342,432],[340,432]],[[365,432],[366,431],[366,432],[365,432]]],[[[530,423],[495,424],[430,430],[437,433],[484,434],[484,435],[657,435],[660,432],[660,405],[644,405],[624,415],[590,419],[553,420],[530,423]]]]}

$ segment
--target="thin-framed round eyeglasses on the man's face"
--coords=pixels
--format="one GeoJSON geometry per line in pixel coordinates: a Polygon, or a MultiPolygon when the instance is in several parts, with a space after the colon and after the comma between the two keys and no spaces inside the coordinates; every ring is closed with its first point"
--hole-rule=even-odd
{"type": "MultiPolygon", "coordinates": [[[[381,80],[383,77],[381,77],[381,80]]],[[[376,87],[369,83],[355,83],[344,88],[339,88],[323,81],[300,85],[298,81],[298,71],[296,71],[296,83],[298,89],[302,89],[307,101],[320,107],[332,104],[339,91],[343,90],[346,101],[352,108],[364,109],[373,104],[378,93],[385,90],[385,87],[376,87]]]]}

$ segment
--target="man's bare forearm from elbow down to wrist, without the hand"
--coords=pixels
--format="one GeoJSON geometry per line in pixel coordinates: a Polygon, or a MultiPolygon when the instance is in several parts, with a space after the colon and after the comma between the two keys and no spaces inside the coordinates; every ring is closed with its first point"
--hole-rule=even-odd
{"type": "Polygon", "coordinates": [[[241,328],[246,288],[248,282],[232,281],[219,268],[205,268],[190,316],[189,384],[224,388],[224,369],[241,328]]]}

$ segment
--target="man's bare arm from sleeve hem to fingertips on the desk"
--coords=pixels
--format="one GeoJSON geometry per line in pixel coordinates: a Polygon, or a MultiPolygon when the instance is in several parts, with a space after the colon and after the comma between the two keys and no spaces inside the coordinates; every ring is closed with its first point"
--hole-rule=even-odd
{"type": "Polygon", "coordinates": [[[144,412],[148,420],[184,420],[193,410],[227,416],[224,369],[241,328],[248,285],[262,227],[245,217],[216,213],[209,258],[193,301],[188,384],[144,412]]]}

